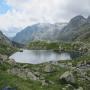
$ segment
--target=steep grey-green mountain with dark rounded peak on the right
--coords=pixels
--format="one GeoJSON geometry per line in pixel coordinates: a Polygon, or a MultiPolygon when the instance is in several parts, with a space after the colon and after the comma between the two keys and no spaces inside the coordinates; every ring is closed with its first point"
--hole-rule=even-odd
{"type": "Polygon", "coordinates": [[[90,39],[90,17],[76,16],[71,19],[59,34],[59,40],[73,41],[90,39]]]}

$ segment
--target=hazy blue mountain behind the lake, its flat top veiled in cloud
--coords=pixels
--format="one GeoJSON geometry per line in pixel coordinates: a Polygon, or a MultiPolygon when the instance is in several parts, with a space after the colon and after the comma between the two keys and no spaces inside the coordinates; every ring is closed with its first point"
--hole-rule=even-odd
{"type": "Polygon", "coordinates": [[[33,40],[57,40],[58,32],[65,26],[63,23],[38,23],[26,27],[13,38],[18,43],[28,43],[33,40]]]}

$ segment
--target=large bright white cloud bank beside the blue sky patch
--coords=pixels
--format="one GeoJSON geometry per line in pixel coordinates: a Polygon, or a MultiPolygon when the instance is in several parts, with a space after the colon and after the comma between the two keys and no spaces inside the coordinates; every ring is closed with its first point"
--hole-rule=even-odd
{"type": "MultiPolygon", "coordinates": [[[[25,27],[37,22],[60,21],[58,13],[63,13],[66,0],[6,0],[12,7],[0,16],[0,27],[25,27]],[[2,23],[3,22],[3,23],[2,23]]],[[[61,19],[62,20],[62,19],[61,19]]]]}

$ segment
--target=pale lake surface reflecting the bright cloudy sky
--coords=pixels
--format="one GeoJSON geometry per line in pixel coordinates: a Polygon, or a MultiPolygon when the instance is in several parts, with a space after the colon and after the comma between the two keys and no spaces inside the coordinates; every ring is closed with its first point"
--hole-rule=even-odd
{"type": "Polygon", "coordinates": [[[10,59],[19,63],[39,64],[48,61],[71,60],[71,57],[68,53],[58,54],[51,50],[23,50],[10,56],[10,59]]]}

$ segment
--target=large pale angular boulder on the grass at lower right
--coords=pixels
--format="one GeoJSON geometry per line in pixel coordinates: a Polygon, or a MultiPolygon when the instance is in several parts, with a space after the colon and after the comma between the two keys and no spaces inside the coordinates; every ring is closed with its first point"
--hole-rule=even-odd
{"type": "Polygon", "coordinates": [[[75,78],[70,71],[66,71],[63,75],[61,75],[60,80],[65,83],[75,83],[75,78]]]}

